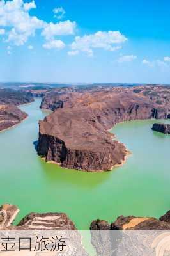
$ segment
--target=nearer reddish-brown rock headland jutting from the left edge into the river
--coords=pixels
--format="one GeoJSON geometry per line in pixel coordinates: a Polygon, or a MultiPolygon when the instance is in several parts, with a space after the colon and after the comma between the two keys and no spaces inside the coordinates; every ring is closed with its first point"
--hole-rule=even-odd
{"type": "Polygon", "coordinates": [[[19,124],[27,117],[17,106],[0,105],[0,131],[19,124]]]}

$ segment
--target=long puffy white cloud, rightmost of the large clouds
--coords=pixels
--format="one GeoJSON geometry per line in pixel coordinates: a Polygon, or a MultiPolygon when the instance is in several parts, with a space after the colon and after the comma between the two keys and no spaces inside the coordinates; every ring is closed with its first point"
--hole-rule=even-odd
{"type": "Polygon", "coordinates": [[[85,52],[87,56],[93,56],[93,49],[101,48],[106,51],[116,51],[121,48],[114,44],[121,44],[127,38],[120,31],[98,31],[97,33],[84,36],[76,36],[71,45],[72,51],[85,52]]]}

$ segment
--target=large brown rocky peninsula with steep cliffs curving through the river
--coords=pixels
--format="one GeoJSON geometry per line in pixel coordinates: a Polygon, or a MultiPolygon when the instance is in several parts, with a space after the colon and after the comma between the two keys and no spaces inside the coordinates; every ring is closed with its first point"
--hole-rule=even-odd
{"type": "Polygon", "coordinates": [[[112,140],[108,129],[128,120],[166,118],[170,106],[165,92],[167,95],[170,90],[146,86],[137,92],[134,88],[101,88],[55,93],[54,97],[49,93],[42,100],[42,108],[45,102],[45,108],[54,113],[40,121],[38,154],[66,168],[112,170],[129,152],[125,145],[112,140]],[[150,92],[162,95],[162,101],[157,102],[150,92]]]}

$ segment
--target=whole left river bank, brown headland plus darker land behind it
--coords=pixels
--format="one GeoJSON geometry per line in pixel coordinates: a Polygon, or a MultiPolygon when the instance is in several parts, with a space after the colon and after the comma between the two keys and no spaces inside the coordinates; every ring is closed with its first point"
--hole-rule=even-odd
{"type": "Polygon", "coordinates": [[[17,106],[33,101],[26,93],[14,90],[0,90],[0,131],[19,124],[27,117],[17,106]]]}

